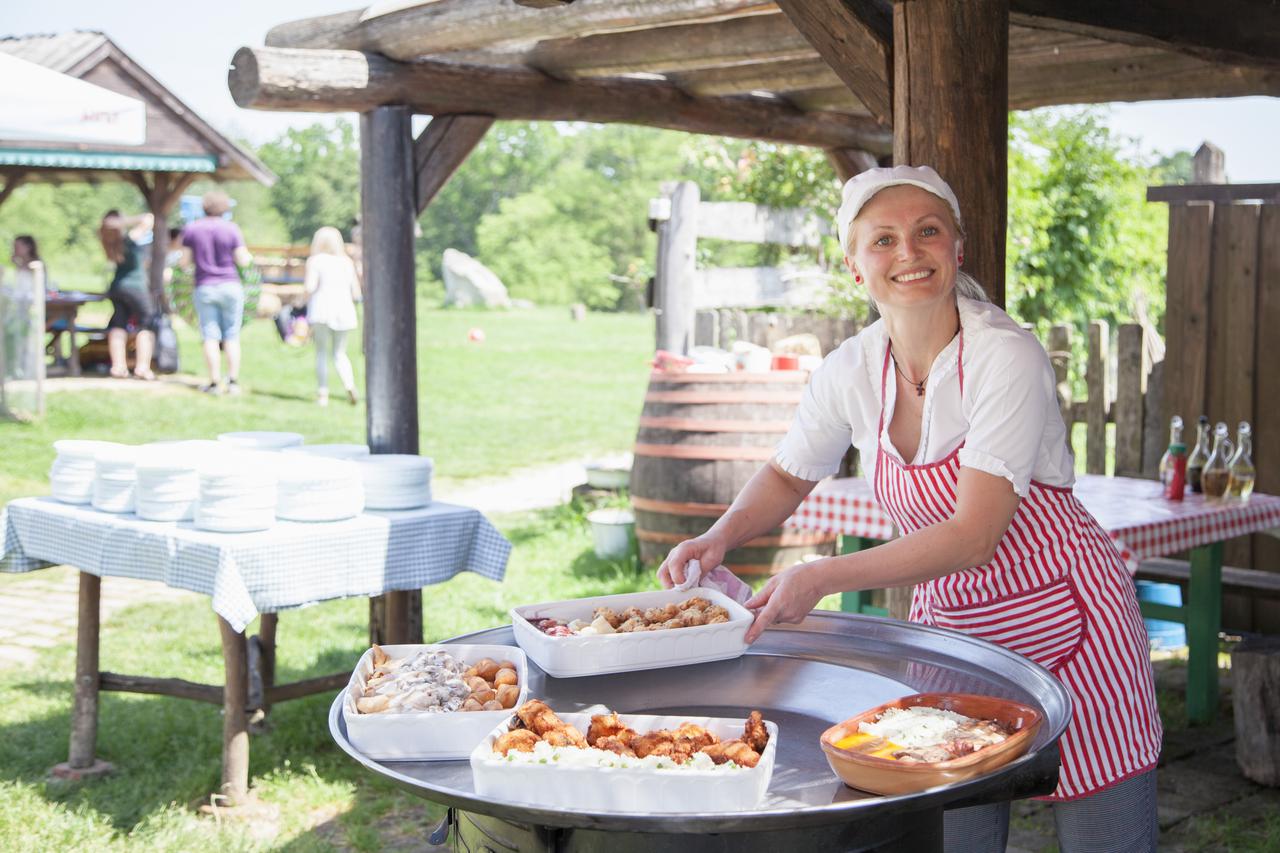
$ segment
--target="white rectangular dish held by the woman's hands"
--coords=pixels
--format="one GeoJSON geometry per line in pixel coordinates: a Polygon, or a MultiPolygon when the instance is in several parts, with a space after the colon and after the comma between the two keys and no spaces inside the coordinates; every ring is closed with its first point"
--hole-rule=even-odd
{"type": "Polygon", "coordinates": [[[653,670],[739,657],[746,651],[744,638],[753,619],[751,611],[724,593],[703,588],[685,592],[657,589],[621,596],[596,596],[511,608],[511,626],[520,648],[525,649],[544,672],[559,679],[653,670]],[[627,607],[648,610],[649,607],[682,602],[695,596],[724,607],[730,612],[730,620],[695,628],[588,637],[548,637],[530,621],[532,619],[554,619],[561,622],[570,622],[575,619],[590,621],[591,611],[596,607],[612,607],[620,612],[627,607]]]}

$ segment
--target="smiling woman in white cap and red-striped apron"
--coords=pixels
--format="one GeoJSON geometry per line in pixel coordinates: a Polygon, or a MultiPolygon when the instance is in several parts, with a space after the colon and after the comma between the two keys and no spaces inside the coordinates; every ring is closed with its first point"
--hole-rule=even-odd
{"type": "MultiPolygon", "coordinates": [[[[915,584],[911,621],[998,643],[1071,694],[1053,802],[1062,850],[1155,850],[1161,724],[1133,580],[1071,492],[1048,356],[966,273],[960,206],[928,167],[844,186],[845,264],[881,319],[814,371],[774,457],[703,535],[659,569],[782,524],[850,442],[901,537],[791,566],[746,602],[754,642],[823,596],[915,584]]],[[[851,710],[850,712],[852,712],[851,710]]],[[[1004,850],[1009,803],[948,811],[947,850],[1004,850]]]]}

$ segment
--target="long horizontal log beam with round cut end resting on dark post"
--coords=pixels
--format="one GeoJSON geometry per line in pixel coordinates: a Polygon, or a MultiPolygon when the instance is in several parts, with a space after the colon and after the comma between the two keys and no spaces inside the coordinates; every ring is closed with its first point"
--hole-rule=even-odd
{"type": "Polygon", "coordinates": [[[239,106],[364,113],[404,104],[416,113],[498,119],[623,122],[817,147],[888,151],[890,132],[855,115],[804,113],[765,97],[696,97],[666,81],[557,81],[538,72],[397,63],[353,50],[241,47],[228,74],[239,106]]]}

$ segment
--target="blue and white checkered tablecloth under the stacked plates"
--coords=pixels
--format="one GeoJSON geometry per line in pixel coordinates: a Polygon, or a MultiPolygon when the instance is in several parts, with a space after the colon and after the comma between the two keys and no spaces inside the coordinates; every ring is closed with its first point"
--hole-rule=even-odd
{"type": "Polygon", "coordinates": [[[100,578],[156,580],[210,596],[236,630],[259,613],[417,589],[460,571],[502,580],[511,555],[477,510],[452,503],[210,533],[35,497],[0,510],[0,571],[70,565],[100,578]]]}

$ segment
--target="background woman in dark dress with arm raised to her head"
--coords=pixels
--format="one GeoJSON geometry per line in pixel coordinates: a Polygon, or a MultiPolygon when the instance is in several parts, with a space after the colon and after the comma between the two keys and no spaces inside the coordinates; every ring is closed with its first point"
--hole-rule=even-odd
{"type": "Polygon", "coordinates": [[[159,314],[147,283],[146,248],[140,245],[154,222],[151,214],[122,216],[119,210],[109,210],[97,232],[102,251],[115,264],[115,274],[106,291],[114,309],[106,324],[106,350],[111,357],[110,374],[118,379],[129,375],[127,350],[131,319],[137,328],[133,375],[147,380],[156,378],[151,371],[151,353],[155,352],[159,314]]]}

